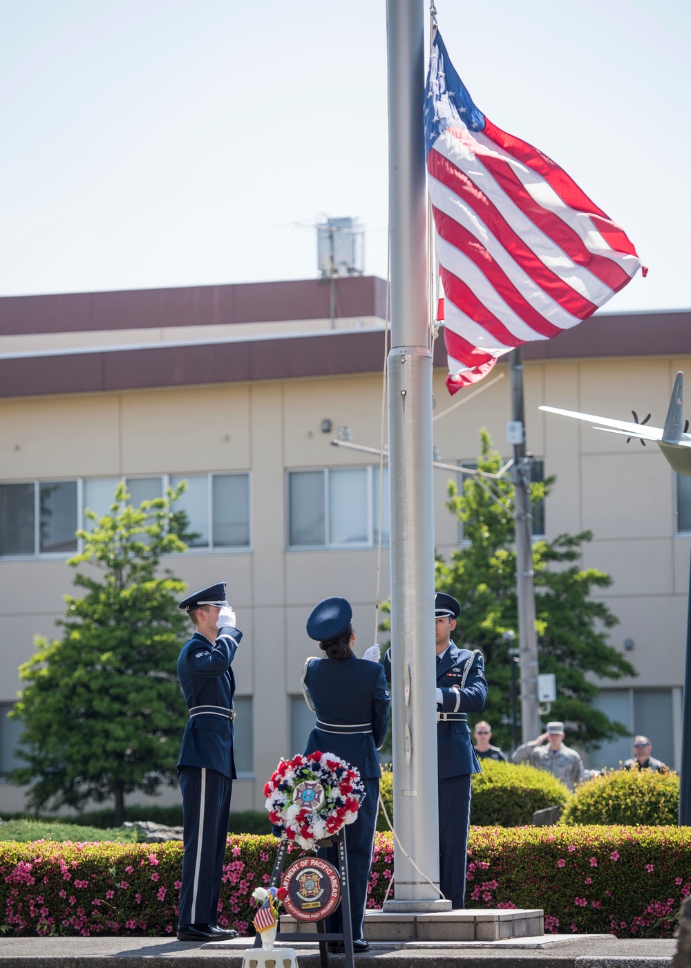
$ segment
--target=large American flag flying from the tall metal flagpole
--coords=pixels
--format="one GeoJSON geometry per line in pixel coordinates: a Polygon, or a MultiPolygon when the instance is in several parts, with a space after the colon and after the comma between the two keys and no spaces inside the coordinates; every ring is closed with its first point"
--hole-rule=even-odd
{"type": "Polygon", "coordinates": [[[473,104],[438,33],[425,136],[446,385],[455,393],[503,353],[591,316],[641,262],[622,229],[565,171],[473,104]]]}

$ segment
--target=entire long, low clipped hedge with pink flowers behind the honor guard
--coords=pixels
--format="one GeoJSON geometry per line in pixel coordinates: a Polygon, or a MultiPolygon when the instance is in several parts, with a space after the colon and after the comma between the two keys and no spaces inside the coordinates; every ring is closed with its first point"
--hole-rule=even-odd
{"type": "MultiPolygon", "coordinates": [[[[277,842],[228,837],[220,924],[248,932],[250,895],[268,883],[277,842]]],[[[3,929],[171,934],[181,866],[179,841],[0,843],[3,929]]],[[[378,833],[369,907],[380,907],[392,869],[392,836],[378,833]]],[[[474,827],[467,878],[468,907],[543,908],[547,931],[671,937],[691,893],[691,828],[474,827]]]]}

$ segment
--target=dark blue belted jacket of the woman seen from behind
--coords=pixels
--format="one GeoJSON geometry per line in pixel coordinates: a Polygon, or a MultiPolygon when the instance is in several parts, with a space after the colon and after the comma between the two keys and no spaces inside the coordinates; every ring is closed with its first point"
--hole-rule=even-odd
{"type": "Polygon", "coordinates": [[[305,753],[317,749],[335,753],[357,767],[363,778],[380,776],[376,750],[389,728],[391,698],[379,663],[356,655],[340,661],[328,657],[308,659],[303,681],[318,720],[305,753]],[[371,732],[338,734],[329,732],[332,725],[371,732]]]}

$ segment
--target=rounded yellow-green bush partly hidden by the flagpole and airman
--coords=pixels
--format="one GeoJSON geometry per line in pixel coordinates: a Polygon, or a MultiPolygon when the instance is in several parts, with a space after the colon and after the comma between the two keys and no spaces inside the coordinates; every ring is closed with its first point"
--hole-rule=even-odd
{"type": "MultiPolygon", "coordinates": [[[[381,799],[393,821],[393,777],[391,771],[381,774],[381,799]]],[[[497,763],[483,760],[482,772],[472,777],[470,823],[480,826],[523,827],[532,820],[535,810],[569,801],[568,788],[552,773],[536,770],[527,764],[497,763]]],[[[381,810],[377,831],[388,831],[381,810]]]]}

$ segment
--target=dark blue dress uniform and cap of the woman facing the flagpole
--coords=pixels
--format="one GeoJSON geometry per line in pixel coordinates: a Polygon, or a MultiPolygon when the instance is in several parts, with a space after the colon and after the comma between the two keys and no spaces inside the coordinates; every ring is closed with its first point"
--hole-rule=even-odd
{"type": "MultiPolygon", "coordinates": [[[[326,599],[317,605],[308,634],[320,642],[339,635],[349,626],[352,612],[344,598],[326,599]],[[343,620],[345,618],[345,626],[343,620]]],[[[305,663],[303,687],[315,707],[316,725],[305,754],[319,750],[334,753],[360,771],[365,799],[357,820],[345,828],[350,920],[355,941],[362,938],[367,885],[372,867],[381,769],[376,750],[386,738],[391,699],[381,665],[351,654],[345,659],[311,658],[305,663]]],[[[338,866],[336,845],[319,851],[338,866]]],[[[343,931],[339,905],[327,919],[327,931],[343,931]]]]}

